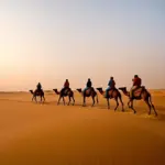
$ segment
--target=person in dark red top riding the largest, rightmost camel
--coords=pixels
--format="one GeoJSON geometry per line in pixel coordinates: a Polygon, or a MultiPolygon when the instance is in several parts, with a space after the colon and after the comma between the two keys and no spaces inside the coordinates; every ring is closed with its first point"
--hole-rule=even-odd
{"type": "Polygon", "coordinates": [[[132,79],[132,81],[133,81],[133,87],[130,90],[130,99],[133,98],[133,91],[135,89],[140,88],[141,84],[142,84],[142,80],[141,80],[141,78],[138,75],[134,75],[134,78],[132,79]]]}

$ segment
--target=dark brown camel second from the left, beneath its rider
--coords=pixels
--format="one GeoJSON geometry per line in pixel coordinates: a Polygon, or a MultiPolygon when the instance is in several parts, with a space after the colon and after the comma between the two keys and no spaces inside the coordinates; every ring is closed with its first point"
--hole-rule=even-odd
{"type": "Polygon", "coordinates": [[[64,92],[63,91],[58,91],[57,89],[53,89],[54,91],[55,91],[55,94],[56,95],[59,95],[59,99],[58,99],[58,102],[57,102],[57,105],[59,105],[59,101],[61,101],[61,99],[63,98],[63,102],[64,102],[64,105],[65,105],[65,99],[64,99],[64,97],[67,97],[68,96],[68,99],[69,99],[69,101],[68,101],[68,106],[70,105],[70,101],[72,101],[72,99],[73,99],[73,106],[75,105],[75,98],[74,98],[74,91],[72,90],[72,89],[69,89],[69,90],[64,90],[64,92]]]}

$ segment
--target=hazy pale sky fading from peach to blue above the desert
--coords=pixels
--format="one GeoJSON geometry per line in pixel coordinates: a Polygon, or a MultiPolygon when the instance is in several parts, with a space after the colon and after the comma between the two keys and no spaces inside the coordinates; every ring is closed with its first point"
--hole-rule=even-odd
{"type": "Polygon", "coordinates": [[[164,0],[1,0],[0,90],[165,88],[164,0]]]}

